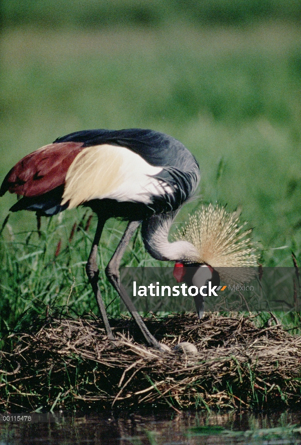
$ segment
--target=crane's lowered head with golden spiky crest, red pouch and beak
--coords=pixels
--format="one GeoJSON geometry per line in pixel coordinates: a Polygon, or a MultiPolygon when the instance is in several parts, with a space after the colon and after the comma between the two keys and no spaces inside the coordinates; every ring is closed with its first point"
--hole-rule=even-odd
{"type": "Polygon", "coordinates": [[[224,207],[209,204],[194,212],[175,235],[176,240],[188,241],[194,247],[191,258],[176,262],[174,277],[200,289],[194,296],[199,318],[204,314],[204,297],[210,281],[212,287],[218,286],[220,279],[242,283],[255,274],[258,253],[249,238],[251,230],[245,230],[245,224],[239,222],[238,212],[227,213],[224,207]]]}

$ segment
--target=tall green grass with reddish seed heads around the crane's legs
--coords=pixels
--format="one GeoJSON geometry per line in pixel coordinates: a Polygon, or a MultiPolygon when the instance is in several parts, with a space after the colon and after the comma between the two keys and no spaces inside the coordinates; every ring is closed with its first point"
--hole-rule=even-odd
{"type": "MultiPolygon", "coordinates": [[[[91,311],[98,314],[85,272],[96,217],[91,211],[74,213],[45,219],[40,231],[16,231],[9,221],[6,223],[0,237],[0,333],[9,334],[14,329],[25,328],[28,323],[32,324],[33,318],[43,317],[53,310],[56,314],[72,316],[83,316],[91,311]]],[[[109,221],[99,248],[99,285],[111,317],[120,315],[119,297],[108,283],[104,269],[125,227],[124,222],[112,224],[109,221]]],[[[137,232],[121,265],[160,264],[145,252],[140,232],[137,232]]]]}

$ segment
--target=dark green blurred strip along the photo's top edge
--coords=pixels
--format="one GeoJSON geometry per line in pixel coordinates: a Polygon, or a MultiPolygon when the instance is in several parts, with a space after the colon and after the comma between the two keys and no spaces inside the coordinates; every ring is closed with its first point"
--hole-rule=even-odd
{"type": "Polygon", "coordinates": [[[58,26],[161,27],[175,19],[196,24],[244,25],[259,20],[300,18],[299,0],[6,0],[4,24],[58,26]]]}

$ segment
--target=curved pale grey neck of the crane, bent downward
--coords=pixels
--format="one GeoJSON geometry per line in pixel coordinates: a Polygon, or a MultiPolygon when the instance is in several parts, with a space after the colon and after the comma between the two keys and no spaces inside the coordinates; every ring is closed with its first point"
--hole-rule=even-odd
{"type": "Polygon", "coordinates": [[[153,215],[143,221],[141,233],[146,250],[161,261],[198,262],[197,249],[188,241],[169,242],[168,235],[176,212],[153,215]]]}

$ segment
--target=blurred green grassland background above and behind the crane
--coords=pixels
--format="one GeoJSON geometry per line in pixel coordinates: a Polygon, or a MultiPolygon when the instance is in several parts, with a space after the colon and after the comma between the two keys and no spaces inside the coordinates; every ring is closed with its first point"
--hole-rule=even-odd
{"type": "MultiPolygon", "coordinates": [[[[293,0],[2,2],[0,180],[21,157],[72,131],[153,128],[194,153],[204,202],[242,209],[264,265],[292,265],[291,250],[300,261],[300,18],[293,0]]],[[[14,202],[2,198],[1,221],[14,202]]],[[[64,226],[67,245],[82,213],[62,218],[53,224],[64,226]]],[[[2,254],[27,255],[23,232],[34,227],[34,214],[12,215],[2,254]]],[[[110,233],[102,242],[109,250],[119,236],[108,241],[110,233]]],[[[10,286],[6,278],[2,291],[10,286]]]]}

